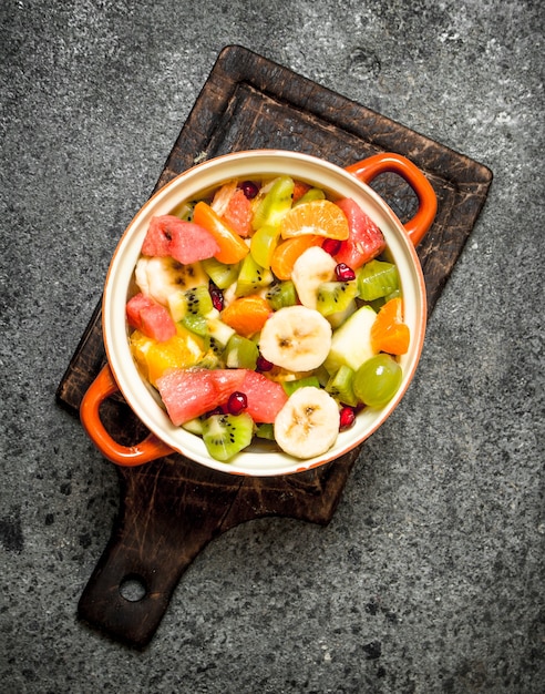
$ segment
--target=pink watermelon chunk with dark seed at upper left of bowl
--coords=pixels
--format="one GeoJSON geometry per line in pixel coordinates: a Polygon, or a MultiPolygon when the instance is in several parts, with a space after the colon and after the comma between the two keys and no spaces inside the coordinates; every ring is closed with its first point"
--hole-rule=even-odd
{"type": "Polygon", "coordinates": [[[169,255],[183,265],[212,258],[218,252],[219,246],[208,231],[169,214],[152,217],[142,244],[144,255],[169,255]]]}

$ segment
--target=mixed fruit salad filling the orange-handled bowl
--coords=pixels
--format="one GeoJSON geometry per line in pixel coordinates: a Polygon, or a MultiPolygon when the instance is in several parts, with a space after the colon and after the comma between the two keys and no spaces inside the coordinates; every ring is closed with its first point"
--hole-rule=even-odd
{"type": "Polygon", "coordinates": [[[353,200],[289,175],[227,181],[153,217],[126,319],[174,426],[216,460],[256,439],[309,459],[388,404],[410,334],[384,251],[353,200]]]}

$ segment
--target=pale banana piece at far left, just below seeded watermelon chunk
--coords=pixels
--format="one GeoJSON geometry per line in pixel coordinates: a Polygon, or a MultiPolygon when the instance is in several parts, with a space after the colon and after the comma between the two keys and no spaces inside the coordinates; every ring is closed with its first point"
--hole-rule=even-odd
{"type": "Polygon", "coordinates": [[[163,306],[168,306],[168,297],[179,289],[194,289],[202,284],[208,284],[200,263],[182,265],[171,256],[140,258],[134,278],[143,294],[163,306]]]}

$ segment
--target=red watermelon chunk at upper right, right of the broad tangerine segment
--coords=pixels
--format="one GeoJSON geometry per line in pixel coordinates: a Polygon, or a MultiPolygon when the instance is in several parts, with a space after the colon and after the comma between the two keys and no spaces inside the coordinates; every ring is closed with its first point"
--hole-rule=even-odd
{"type": "Polygon", "coordinates": [[[350,197],[337,201],[348,220],[350,235],[341,242],[335,255],[337,263],[346,263],[352,269],[372,261],[385,248],[385,239],[380,228],[350,197]]]}

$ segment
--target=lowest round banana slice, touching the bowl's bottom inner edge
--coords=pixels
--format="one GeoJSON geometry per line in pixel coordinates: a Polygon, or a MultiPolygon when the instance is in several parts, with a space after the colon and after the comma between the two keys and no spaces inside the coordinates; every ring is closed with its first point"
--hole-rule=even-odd
{"type": "Polygon", "coordinates": [[[321,388],[296,390],[275,419],[278,446],[296,458],[313,458],[328,451],[339,435],[339,406],[321,388]]]}

